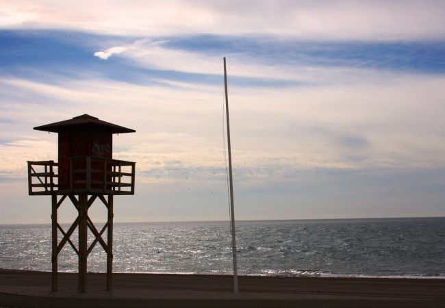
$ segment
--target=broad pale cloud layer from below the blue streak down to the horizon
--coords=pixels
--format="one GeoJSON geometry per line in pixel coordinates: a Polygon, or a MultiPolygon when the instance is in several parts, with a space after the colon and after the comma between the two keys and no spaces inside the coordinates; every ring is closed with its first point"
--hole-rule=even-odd
{"type": "MultiPolygon", "coordinates": [[[[435,205],[443,200],[444,77],[367,77],[334,86],[230,88],[238,217],[301,217],[305,208],[311,209],[305,218],[372,216],[374,203],[387,209],[382,215],[400,216],[405,201],[412,209],[421,203],[419,215],[442,213],[435,205]],[[424,182],[416,177],[422,172],[438,175],[424,182]],[[391,188],[383,186],[387,179],[391,188]],[[258,205],[267,214],[258,214],[258,205]]],[[[16,194],[26,194],[26,160],[57,160],[57,135],[33,126],[88,113],[137,131],[114,136],[114,157],[136,162],[137,170],[137,194],[128,199],[134,214],[119,219],[150,213],[144,219],[165,220],[152,215],[153,204],[164,202],[170,212],[190,204],[188,217],[196,220],[196,207],[225,201],[222,90],[186,82],[141,86],[86,78],[51,84],[3,77],[3,133],[12,136],[0,145],[2,196],[12,200],[12,183],[16,194]]]]}

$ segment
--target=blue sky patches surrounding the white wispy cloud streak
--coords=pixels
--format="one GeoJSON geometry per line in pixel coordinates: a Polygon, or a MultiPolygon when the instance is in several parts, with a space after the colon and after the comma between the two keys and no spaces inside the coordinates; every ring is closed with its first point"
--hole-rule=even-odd
{"type": "MultiPolygon", "coordinates": [[[[94,52],[131,44],[140,38],[99,36],[69,31],[0,31],[3,76],[57,82],[60,76],[99,75],[132,84],[157,84],[159,79],[220,84],[221,76],[179,70],[147,69],[125,57],[108,60],[94,52]],[[53,78],[51,78],[51,75],[53,78]]],[[[267,37],[189,36],[153,38],[162,47],[209,55],[231,55],[249,63],[374,68],[418,73],[445,73],[445,42],[309,42],[267,37]]],[[[231,77],[236,86],[298,86],[289,80],[231,77]]],[[[301,82],[301,81],[300,81],[301,82]]]]}

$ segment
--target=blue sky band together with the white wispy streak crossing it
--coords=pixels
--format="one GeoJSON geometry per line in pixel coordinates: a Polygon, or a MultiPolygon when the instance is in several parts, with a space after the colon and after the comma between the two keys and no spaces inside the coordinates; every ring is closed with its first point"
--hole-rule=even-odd
{"type": "Polygon", "coordinates": [[[374,82],[383,75],[444,73],[445,45],[424,43],[301,42],[277,38],[190,36],[110,38],[71,32],[0,32],[8,48],[5,75],[105,78],[135,84],[220,84],[227,57],[231,84],[274,88],[374,82]],[[79,45],[83,42],[84,45],[79,45]],[[96,57],[93,56],[95,53],[96,57]],[[113,61],[98,61],[97,57],[113,61]],[[42,69],[44,67],[44,69],[42,69]]]}

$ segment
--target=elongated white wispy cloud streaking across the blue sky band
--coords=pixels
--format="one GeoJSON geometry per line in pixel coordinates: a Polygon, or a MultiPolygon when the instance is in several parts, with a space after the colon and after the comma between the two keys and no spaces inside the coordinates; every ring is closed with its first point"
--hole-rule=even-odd
{"type": "MultiPolygon", "coordinates": [[[[277,43],[278,44],[278,43],[277,43]]],[[[111,49],[123,48],[112,47],[111,49]]],[[[351,84],[365,78],[379,81],[383,75],[392,77],[390,69],[363,68],[354,64],[323,65],[311,61],[296,62],[293,59],[279,59],[268,62],[255,51],[188,51],[168,47],[166,40],[136,40],[125,47],[120,57],[132,62],[134,66],[151,70],[165,70],[188,74],[222,75],[223,56],[227,56],[227,70],[230,81],[242,83],[242,79],[253,79],[253,84],[265,80],[262,86],[289,86],[314,84],[351,84]]],[[[285,52],[285,51],[284,51],[285,52]]],[[[326,58],[329,55],[325,56],[326,58]]],[[[325,61],[327,62],[327,61],[325,61]]],[[[385,78],[387,78],[385,77],[385,78]]],[[[192,78],[192,77],[190,77],[192,78]]],[[[166,81],[170,82],[170,81],[166,81]]]]}

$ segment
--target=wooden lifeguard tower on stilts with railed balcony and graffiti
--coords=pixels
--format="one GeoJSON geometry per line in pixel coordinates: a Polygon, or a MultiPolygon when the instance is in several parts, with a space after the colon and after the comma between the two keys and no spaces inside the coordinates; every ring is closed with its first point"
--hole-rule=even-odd
{"type": "Polygon", "coordinates": [[[27,162],[29,195],[51,196],[52,290],[58,290],[58,254],[67,242],[79,256],[79,291],[86,291],[87,257],[98,242],[107,253],[107,290],[111,290],[113,196],[134,194],[136,164],[112,158],[112,135],[136,131],[88,114],[34,129],[58,133],[59,138],[59,162],[27,162]],[[78,215],[68,231],[65,231],[58,223],[58,208],[67,197],[78,215]],[[100,231],[88,217],[88,209],[97,199],[107,207],[107,222],[100,231]],[[79,243],[76,247],[70,237],[77,227],[79,243]],[[88,229],[94,235],[89,247],[88,229]],[[105,230],[106,242],[102,238],[105,230]],[[63,235],[60,242],[59,232],[63,235]]]}

